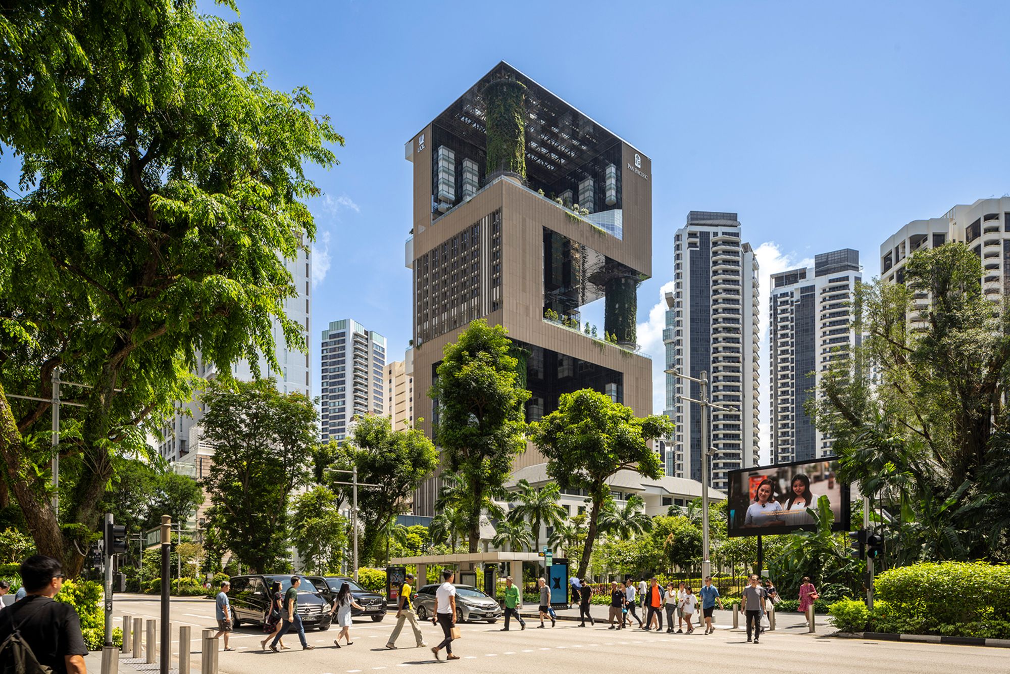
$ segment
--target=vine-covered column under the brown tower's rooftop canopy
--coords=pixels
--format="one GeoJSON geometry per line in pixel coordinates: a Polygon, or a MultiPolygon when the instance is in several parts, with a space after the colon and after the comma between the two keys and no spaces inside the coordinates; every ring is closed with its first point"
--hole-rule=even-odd
{"type": "Polygon", "coordinates": [[[484,88],[487,103],[488,175],[499,171],[526,179],[526,86],[494,80],[484,88]]]}

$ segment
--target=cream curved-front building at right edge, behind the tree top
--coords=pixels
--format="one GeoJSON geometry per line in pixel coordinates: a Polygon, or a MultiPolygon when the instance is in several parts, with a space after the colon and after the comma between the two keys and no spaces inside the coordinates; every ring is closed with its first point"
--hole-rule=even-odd
{"type": "MultiPolygon", "coordinates": [[[[958,204],[942,217],[912,220],[881,244],[881,278],[905,282],[905,265],[916,251],[947,242],[963,242],[982,260],[982,289],[994,301],[1010,294],[1010,197],[958,204]]],[[[929,295],[915,295],[916,308],[929,306],[929,295]]],[[[924,327],[918,311],[909,316],[912,328],[924,327]]]]}

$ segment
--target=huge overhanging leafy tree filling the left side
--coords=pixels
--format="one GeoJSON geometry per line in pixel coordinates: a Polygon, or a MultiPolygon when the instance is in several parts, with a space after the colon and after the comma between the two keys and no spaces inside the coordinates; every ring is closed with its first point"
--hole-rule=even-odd
{"type": "MultiPolygon", "coordinates": [[[[342,143],[298,88],[247,72],[237,23],[195,0],[44,0],[0,9],[0,143],[20,163],[0,185],[0,458],[39,552],[76,576],[117,454],[146,451],[187,373],[276,366],[286,260],[314,235],[306,164],[342,143]],[[62,410],[59,517],[49,505],[48,397],[62,410]],[[28,441],[28,442],[24,442],[28,441]]],[[[225,375],[226,376],[226,375],[225,375]]]]}

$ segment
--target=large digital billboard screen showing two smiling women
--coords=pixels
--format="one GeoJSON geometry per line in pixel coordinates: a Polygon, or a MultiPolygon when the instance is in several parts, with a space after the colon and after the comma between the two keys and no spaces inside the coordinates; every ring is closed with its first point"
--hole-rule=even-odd
{"type": "Polygon", "coordinates": [[[727,535],[769,536],[815,528],[807,508],[816,510],[821,496],[827,497],[834,513],[831,528],[847,532],[849,490],[837,475],[836,457],[730,471],[727,535]]]}

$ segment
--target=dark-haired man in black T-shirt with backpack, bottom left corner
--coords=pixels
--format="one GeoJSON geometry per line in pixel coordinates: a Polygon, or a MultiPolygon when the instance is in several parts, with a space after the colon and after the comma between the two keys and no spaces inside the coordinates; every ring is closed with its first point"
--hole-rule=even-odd
{"type": "Polygon", "coordinates": [[[25,597],[0,611],[0,670],[41,674],[87,674],[88,649],[81,635],[81,620],[70,604],[53,600],[63,587],[60,562],[34,555],[21,564],[25,597]]]}

